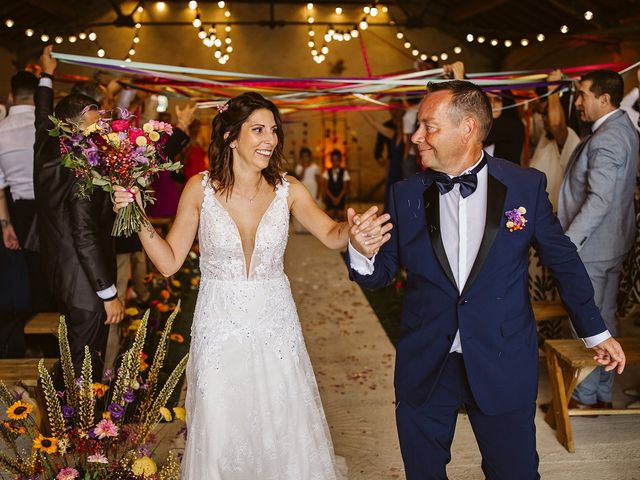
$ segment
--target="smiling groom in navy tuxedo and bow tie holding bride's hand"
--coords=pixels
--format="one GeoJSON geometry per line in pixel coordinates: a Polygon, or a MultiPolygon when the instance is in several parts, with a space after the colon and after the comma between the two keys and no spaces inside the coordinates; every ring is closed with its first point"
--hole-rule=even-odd
{"type": "Polygon", "coordinates": [[[349,246],[350,274],[362,287],[389,284],[399,266],[408,271],[395,372],[406,475],[446,478],[464,405],[486,478],[537,479],[529,245],[553,272],[573,325],[598,362],[621,373],[624,353],[553,215],[545,176],[482,150],[492,121],[487,96],[459,80],[430,83],[428,92],[412,137],[427,170],[393,186],[391,238],[377,254],[370,246],[375,239],[355,226],[349,246]]]}

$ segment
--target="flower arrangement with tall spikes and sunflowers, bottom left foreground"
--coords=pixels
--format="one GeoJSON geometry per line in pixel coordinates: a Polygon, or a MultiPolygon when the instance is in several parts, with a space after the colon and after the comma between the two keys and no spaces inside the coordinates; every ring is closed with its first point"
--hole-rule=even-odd
{"type": "Polygon", "coordinates": [[[147,311],[132,347],[122,356],[117,371],[105,375],[105,383],[92,382],[88,347],[82,373],[76,377],[66,324],[61,317],[58,333],[65,390],[55,390],[42,361],[38,367],[47,428],[36,424],[31,404],[16,399],[0,382],[0,401],[5,404],[8,417],[0,425],[0,439],[5,443],[0,453],[0,471],[16,474],[21,480],[177,480],[180,466],[173,453],[159,467],[152,452],[157,447],[156,430],[161,420],[185,420],[183,408],[174,408],[172,416],[165,405],[184,373],[188,355],[164,385],[158,382],[179,306],[178,303],[167,321],[148,374],[139,374],[147,311]]]}

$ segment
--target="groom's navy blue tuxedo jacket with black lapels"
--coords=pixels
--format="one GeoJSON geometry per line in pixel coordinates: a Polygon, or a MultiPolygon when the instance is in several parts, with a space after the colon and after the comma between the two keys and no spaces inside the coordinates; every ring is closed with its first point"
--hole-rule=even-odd
{"type": "Polygon", "coordinates": [[[544,174],[489,155],[487,166],[486,226],[462,292],[440,235],[440,195],[427,172],[393,185],[388,205],[393,230],[375,258],[374,273],[350,269],[364,288],[388,285],[399,266],[408,272],[396,355],[397,401],[421,404],[429,398],[458,328],[467,376],[484,413],[505,413],[535,401],[538,348],[528,290],[530,245],[551,269],[578,335],[606,329],[576,248],[553,214],[544,174]],[[518,207],[526,208],[527,223],[510,232],[505,212],[518,207]]]}

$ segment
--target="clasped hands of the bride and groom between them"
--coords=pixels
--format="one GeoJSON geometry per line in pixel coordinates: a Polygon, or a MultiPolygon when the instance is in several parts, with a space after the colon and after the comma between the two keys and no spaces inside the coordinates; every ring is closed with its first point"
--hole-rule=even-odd
{"type": "Polygon", "coordinates": [[[362,255],[372,258],[380,247],[391,238],[389,231],[393,225],[388,213],[377,216],[378,207],[371,207],[363,214],[356,214],[353,208],[347,210],[349,241],[362,255]]]}

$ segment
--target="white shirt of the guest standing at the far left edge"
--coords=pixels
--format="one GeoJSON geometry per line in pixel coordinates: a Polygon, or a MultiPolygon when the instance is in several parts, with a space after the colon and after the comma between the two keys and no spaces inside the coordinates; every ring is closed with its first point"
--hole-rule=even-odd
{"type": "Polygon", "coordinates": [[[14,105],[0,121],[0,189],[11,187],[14,200],[33,200],[35,108],[14,105]]]}

